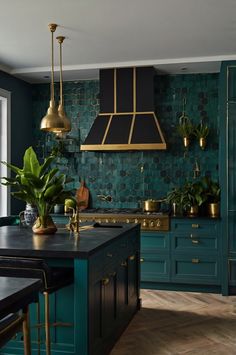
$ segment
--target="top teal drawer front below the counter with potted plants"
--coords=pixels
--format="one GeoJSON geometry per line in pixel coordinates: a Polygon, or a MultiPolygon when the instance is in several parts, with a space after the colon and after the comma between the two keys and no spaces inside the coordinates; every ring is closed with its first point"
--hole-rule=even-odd
{"type": "Polygon", "coordinates": [[[189,232],[194,234],[207,233],[214,235],[218,232],[218,221],[177,219],[171,221],[171,230],[176,233],[189,232]]]}

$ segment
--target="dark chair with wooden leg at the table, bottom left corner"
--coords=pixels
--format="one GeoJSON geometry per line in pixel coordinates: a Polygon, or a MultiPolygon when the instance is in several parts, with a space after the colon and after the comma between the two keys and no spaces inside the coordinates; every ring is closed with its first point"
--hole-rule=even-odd
{"type": "Polygon", "coordinates": [[[28,307],[20,313],[11,313],[0,319],[0,348],[5,345],[17,332],[23,330],[24,354],[30,355],[30,332],[28,307]]]}

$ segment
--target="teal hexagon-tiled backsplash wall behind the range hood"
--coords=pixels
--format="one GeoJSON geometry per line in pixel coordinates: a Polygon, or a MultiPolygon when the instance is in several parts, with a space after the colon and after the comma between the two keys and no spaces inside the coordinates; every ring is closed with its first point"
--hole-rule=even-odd
{"type": "MultiPolygon", "coordinates": [[[[104,153],[78,151],[78,141],[84,141],[99,112],[99,82],[65,83],[65,109],[72,121],[69,135],[76,141],[65,143],[66,152],[58,158],[59,167],[74,177],[74,188],[79,186],[80,178],[85,179],[93,207],[137,207],[139,200],[165,196],[173,186],[193,178],[196,159],[201,176],[218,179],[218,80],[218,74],[156,76],[156,112],[168,150],[104,153]],[[194,139],[186,153],[176,132],[185,96],[186,113],[192,122],[197,124],[203,119],[210,127],[205,151],[194,139]],[[111,203],[101,202],[97,194],[110,194],[113,200],[111,203]]],[[[49,95],[48,84],[33,85],[34,138],[41,156],[55,145],[52,134],[39,131],[49,95]],[[45,149],[45,142],[49,149],[45,149]]]]}

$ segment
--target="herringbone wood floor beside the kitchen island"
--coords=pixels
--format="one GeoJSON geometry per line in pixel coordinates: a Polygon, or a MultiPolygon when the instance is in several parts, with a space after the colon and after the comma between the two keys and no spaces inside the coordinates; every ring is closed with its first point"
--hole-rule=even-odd
{"type": "Polygon", "coordinates": [[[142,290],[110,355],[236,355],[236,296],[142,290]]]}

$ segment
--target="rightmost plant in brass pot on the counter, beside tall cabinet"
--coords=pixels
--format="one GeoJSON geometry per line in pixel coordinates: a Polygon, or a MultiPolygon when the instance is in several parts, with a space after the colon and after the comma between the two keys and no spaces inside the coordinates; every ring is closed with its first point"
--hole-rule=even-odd
{"type": "Polygon", "coordinates": [[[202,179],[204,192],[206,195],[207,212],[212,218],[220,215],[220,185],[217,181],[213,181],[210,177],[202,179]]]}

